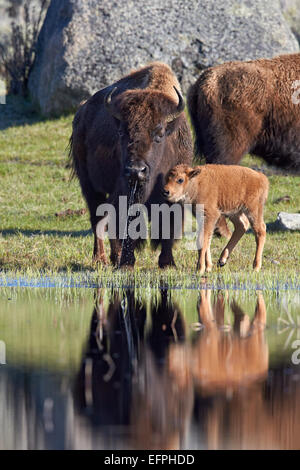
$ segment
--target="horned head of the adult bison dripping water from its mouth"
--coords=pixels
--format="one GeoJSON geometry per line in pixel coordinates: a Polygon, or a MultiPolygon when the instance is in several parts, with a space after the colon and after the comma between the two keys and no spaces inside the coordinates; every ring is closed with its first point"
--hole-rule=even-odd
{"type": "Polygon", "coordinates": [[[177,127],[184,101],[174,87],[174,100],[158,90],[127,90],[114,98],[116,88],[105,97],[105,105],[115,118],[128,181],[140,185],[151,180],[160,168],[167,138],[177,127]]]}

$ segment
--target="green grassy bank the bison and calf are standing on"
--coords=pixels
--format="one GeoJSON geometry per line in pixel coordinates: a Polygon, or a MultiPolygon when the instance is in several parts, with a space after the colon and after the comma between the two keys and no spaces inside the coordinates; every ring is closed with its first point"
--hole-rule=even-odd
{"type": "MultiPolygon", "coordinates": [[[[10,104],[6,105],[10,106],[10,104]]],[[[0,114],[6,106],[0,107],[0,114]]],[[[9,109],[9,108],[8,108],[9,109]]],[[[15,109],[15,104],[14,104],[15,109]]],[[[57,217],[57,212],[85,207],[79,183],[69,181],[66,169],[67,145],[71,133],[72,116],[55,120],[39,120],[26,109],[17,114],[0,117],[0,126],[8,122],[10,127],[0,131],[0,263],[2,276],[57,275],[74,272],[91,273],[94,279],[137,284],[158,284],[161,279],[174,285],[199,284],[195,275],[196,253],[188,251],[178,242],[174,258],[178,269],[161,273],[157,268],[159,252],[147,246],[138,253],[134,273],[114,272],[92,264],[93,239],[88,214],[57,217]],[[23,116],[23,117],[22,117],[23,116]],[[26,122],[27,121],[27,122],[26,122]],[[15,124],[15,125],[13,125],[15,124]]],[[[244,164],[261,166],[257,158],[247,156],[244,164]]],[[[279,211],[300,210],[300,177],[284,174],[269,176],[270,193],[265,210],[266,223],[276,220],[279,211]],[[289,203],[274,201],[289,195],[289,203]]],[[[216,263],[224,246],[224,239],[214,238],[212,256],[216,263]]],[[[108,248],[108,243],[107,243],[108,248]]],[[[273,232],[267,234],[261,273],[252,273],[255,252],[254,236],[247,233],[232,253],[226,267],[216,267],[208,282],[236,285],[274,286],[277,281],[299,285],[300,232],[273,232]]]]}

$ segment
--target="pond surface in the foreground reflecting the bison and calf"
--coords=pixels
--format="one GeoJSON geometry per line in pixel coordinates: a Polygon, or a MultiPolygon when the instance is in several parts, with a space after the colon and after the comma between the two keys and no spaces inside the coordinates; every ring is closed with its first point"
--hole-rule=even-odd
{"type": "Polygon", "coordinates": [[[299,449],[300,295],[0,290],[0,449],[299,449]]]}

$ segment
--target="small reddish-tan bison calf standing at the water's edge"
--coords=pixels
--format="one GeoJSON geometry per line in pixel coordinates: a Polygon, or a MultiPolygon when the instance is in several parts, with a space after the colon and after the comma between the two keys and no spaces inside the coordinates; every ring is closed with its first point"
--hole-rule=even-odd
{"type": "Polygon", "coordinates": [[[262,173],[235,165],[204,165],[195,168],[177,165],[169,171],[164,186],[165,197],[173,203],[193,204],[194,208],[196,204],[204,206],[203,242],[202,248],[198,250],[197,264],[201,274],[205,269],[211,271],[210,243],[221,215],[232,221],[234,232],[222,251],[219,266],[226,264],[250,222],[256,240],[253,267],[255,271],[260,270],[266,238],[263,210],[268,188],[268,179],[262,173]]]}

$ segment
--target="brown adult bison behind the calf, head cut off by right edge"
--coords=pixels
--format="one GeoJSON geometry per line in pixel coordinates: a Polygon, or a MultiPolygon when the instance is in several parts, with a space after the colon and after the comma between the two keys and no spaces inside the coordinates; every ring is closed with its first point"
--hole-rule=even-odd
{"type": "Polygon", "coordinates": [[[236,164],[251,153],[300,170],[300,54],[208,68],[188,107],[207,163],[236,164]]]}

